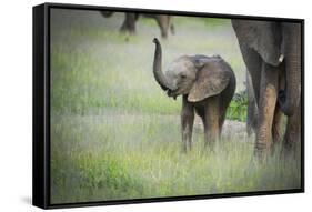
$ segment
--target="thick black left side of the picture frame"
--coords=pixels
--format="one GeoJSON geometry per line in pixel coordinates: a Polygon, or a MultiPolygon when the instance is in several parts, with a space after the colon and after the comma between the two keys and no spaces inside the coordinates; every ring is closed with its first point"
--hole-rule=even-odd
{"type": "Polygon", "coordinates": [[[32,204],[49,205],[48,4],[32,8],[32,204]]]}

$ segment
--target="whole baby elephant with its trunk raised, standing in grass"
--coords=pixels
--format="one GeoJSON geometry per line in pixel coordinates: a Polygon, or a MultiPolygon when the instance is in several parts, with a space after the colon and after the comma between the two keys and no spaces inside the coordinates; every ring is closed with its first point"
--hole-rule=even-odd
{"type": "Polygon", "coordinates": [[[205,145],[213,144],[221,134],[227,108],[235,91],[235,75],[219,55],[182,55],[165,73],[161,70],[161,44],[154,39],[153,74],[169,97],[182,95],[181,125],[183,150],[192,144],[194,112],[204,127],[205,145]]]}

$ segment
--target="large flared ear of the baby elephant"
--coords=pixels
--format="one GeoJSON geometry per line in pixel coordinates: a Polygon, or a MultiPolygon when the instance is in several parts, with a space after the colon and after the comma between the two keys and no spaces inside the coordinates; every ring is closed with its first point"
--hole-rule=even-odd
{"type": "Polygon", "coordinates": [[[198,102],[221,93],[229,84],[231,72],[220,62],[209,62],[197,74],[197,80],[190,90],[188,101],[198,102]]]}

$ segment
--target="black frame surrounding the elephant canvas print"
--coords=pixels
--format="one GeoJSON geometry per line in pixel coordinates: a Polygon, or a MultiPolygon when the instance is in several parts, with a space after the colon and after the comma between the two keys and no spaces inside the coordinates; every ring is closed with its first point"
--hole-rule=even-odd
{"type": "Polygon", "coordinates": [[[43,3],[33,7],[33,143],[32,143],[32,204],[42,209],[60,209],[73,206],[93,206],[93,205],[111,205],[111,204],[129,204],[129,203],[148,203],[163,201],[183,201],[198,199],[214,198],[233,198],[233,196],[252,196],[252,195],[270,195],[285,193],[304,192],[304,20],[289,19],[275,17],[253,17],[236,14],[217,14],[203,12],[185,12],[169,10],[151,10],[151,9],[133,9],[133,8],[114,8],[103,6],[81,6],[81,4],[62,4],[62,3],[43,3]],[[255,191],[242,193],[220,193],[205,195],[188,195],[188,196],[168,196],[152,199],[134,199],[134,200],[113,200],[98,202],[77,202],[51,204],[50,202],[50,10],[51,9],[69,9],[69,10],[108,10],[115,12],[140,12],[140,13],[162,13],[171,16],[187,17],[205,17],[205,18],[227,18],[243,20],[263,20],[263,21],[288,21],[300,22],[302,26],[302,129],[301,129],[301,188],[292,190],[274,190],[274,191],[255,191]]]}

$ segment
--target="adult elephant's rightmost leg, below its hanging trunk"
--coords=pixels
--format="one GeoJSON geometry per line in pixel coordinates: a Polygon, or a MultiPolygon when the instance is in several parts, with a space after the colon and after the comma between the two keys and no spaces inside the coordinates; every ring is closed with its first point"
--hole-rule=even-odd
{"type": "Polygon", "coordinates": [[[283,148],[286,152],[294,151],[295,144],[301,140],[301,100],[294,114],[288,118],[283,148]]]}

